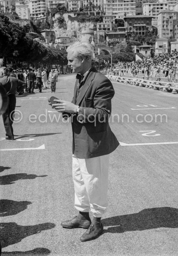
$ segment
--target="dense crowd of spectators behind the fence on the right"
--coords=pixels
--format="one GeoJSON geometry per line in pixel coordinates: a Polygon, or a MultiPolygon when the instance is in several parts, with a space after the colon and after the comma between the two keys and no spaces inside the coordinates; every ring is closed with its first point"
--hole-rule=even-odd
{"type": "Polygon", "coordinates": [[[162,53],[153,58],[143,58],[133,62],[119,62],[111,67],[107,74],[178,79],[178,52],[162,53]]]}

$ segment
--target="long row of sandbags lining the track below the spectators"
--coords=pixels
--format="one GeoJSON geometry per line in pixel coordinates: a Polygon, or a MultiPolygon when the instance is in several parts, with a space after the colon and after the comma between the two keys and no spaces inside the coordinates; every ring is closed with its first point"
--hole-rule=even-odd
{"type": "Polygon", "coordinates": [[[111,81],[116,81],[124,84],[131,84],[139,87],[145,87],[153,90],[160,90],[163,92],[178,93],[178,83],[165,83],[160,81],[144,80],[139,78],[126,78],[123,76],[106,75],[111,81]]]}

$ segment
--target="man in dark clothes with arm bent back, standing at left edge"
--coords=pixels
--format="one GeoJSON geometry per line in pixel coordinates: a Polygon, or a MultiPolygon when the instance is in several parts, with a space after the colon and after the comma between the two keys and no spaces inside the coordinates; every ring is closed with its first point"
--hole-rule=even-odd
{"type": "Polygon", "coordinates": [[[15,77],[8,76],[8,69],[6,67],[0,68],[0,77],[0,84],[6,89],[9,98],[9,105],[6,112],[2,115],[7,136],[6,140],[14,140],[12,124],[16,107],[16,91],[20,92],[23,90],[25,88],[25,82],[15,77]]]}

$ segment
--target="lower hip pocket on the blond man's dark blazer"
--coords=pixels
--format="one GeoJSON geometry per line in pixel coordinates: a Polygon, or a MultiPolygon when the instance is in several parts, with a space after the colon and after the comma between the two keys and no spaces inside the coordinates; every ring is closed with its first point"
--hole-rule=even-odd
{"type": "Polygon", "coordinates": [[[101,133],[93,133],[89,136],[89,151],[90,153],[98,153],[107,150],[106,131],[101,133]]]}

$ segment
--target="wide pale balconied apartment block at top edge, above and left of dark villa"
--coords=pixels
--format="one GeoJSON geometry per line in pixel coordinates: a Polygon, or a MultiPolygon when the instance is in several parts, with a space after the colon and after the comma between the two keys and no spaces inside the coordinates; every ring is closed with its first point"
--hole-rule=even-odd
{"type": "Polygon", "coordinates": [[[117,19],[124,18],[124,15],[136,15],[135,0],[105,0],[106,16],[112,15],[117,19]]]}

